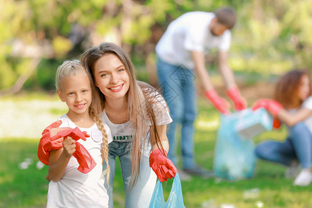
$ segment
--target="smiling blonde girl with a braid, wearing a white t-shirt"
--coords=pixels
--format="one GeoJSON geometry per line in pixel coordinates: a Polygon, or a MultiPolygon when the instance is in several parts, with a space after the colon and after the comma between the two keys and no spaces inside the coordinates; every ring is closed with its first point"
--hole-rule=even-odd
{"type": "MultiPolygon", "coordinates": [[[[71,60],[58,67],[55,79],[58,96],[69,111],[60,117],[62,122],[57,121],[51,126],[62,123],[60,128],[79,129],[78,132],[85,131],[90,137],[84,141],[79,139],[81,137],[74,139],[74,135],[64,136],[64,139],[60,138],[60,146],[53,146],[49,152],[47,207],[108,207],[102,164],[108,162],[108,140],[112,139],[108,126],[94,111],[96,99],[92,98],[97,94],[92,94],[95,87],[90,82],[91,76],[79,60],[71,60]],[[80,169],[79,158],[73,157],[78,150],[87,153],[96,164],[88,170],[80,169]]],[[[51,139],[51,144],[55,141],[51,139]]],[[[105,167],[104,173],[107,173],[109,166],[105,167]]]]}

